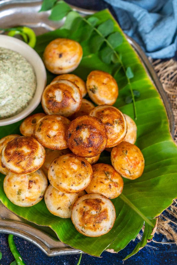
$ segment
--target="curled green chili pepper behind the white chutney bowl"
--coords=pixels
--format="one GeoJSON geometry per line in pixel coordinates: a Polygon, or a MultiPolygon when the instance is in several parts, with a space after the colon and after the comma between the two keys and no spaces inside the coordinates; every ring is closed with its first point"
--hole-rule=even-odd
{"type": "Polygon", "coordinates": [[[32,48],[34,48],[36,44],[36,34],[32,29],[28,27],[16,27],[16,28],[6,28],[6,29],[0,28],[0,30],[9,31],[8,36],[11,37],[15,36],[16,34],[20,34],[23,37],[24,41],[28,43],[28,45],[31,46],[32,48]]]}

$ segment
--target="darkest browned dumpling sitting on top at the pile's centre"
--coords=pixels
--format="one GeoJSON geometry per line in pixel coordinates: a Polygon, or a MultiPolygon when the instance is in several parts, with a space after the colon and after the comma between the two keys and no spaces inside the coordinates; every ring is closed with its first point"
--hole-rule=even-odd
{"type": "Polygon", "coordinates": [[[77,117],[68,128],[67,143],[71,151],[78,156],[97,156],[107,144],[105,126],[95,117],[77,117]]]}

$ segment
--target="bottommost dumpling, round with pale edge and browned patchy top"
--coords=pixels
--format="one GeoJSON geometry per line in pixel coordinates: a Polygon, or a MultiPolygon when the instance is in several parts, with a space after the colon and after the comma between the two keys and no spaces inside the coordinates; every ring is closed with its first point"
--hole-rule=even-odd
{"type": "Polygon", "coordinates": [[[98,193],[80,197],[74,204],[71,220],[84,236],[97,237],[108,233],[116,218],[113,203],[98,193]]]}

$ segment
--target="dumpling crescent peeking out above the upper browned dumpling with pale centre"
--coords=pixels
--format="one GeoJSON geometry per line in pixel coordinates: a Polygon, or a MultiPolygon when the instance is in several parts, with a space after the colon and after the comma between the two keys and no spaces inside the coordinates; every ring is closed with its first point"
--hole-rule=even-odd
{"type": "Polygon", "coordinates": [[[79,87],[83,98],[87,94],[85,82],[79,76],[76,76],[75,74],[61,74],[60,76],[55,77],[53,81],[57,81],[61,79],[69,80],[75,83],[79,87]]]}

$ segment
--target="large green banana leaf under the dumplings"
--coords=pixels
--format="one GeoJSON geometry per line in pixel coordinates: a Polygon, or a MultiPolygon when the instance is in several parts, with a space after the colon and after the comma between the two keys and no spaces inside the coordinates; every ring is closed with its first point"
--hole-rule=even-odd
{"type": "MultiPolygon", "coordinates": [[[[78,40],[78,35],[72,29],[72,20],[78,15],[71,12],[65,25],[58,30],[37,37],[36,51],[40,56],[46,45],[58,37],[68,37],[78,40]]],[[[45,206],[44,200],[32,207],[19,207],[12,204],[3,191],[4,175],[0,175],[0,200],[12,212],[33,223],[49,226],[55,231],[58,238],[73,248],[80,249],[90,255],[100,256],[103,250],[113,249],[120,251],[134,238],[145,223],[144,235],[126,258],[135,254],[149,242],[155,231],[156,218],[177,197],[177,148],[169,132],[169,122],[161,98],[152,81],[148,77],[136,52],[128,43],[119,25],[113,19],[108,10],[94,14],[99,23],[111,19],[114,22],[114,31],[123,36],[123,43],[116,48],[122,54],[124,67],[131,67],[134,77],[130,82],[134,90],[140,91],[140,97],[136,99],[137,109],[137,142],[145,158],[143,175],[136,180],[124,179],[122,194],[113,201],[116,209],[114,227],[109,233],[101,237],[90,238],[76,231],[71,219],[62,219],[52,215],[45,206]]],[[[83,47],[83,59],[75,74],[86,80],[87,75],[94,69],[113,73],[114,64],[105,64],[100,59],[100,53],[90,53],[89,40],[81,43],[83,47]]],[[[48,72],[48,83],[53,74],[48,72]]],[[[130,94],[126,83],[125,74],[120,70],[116,74],[119,86],[119,96],[114,104],[123,113],[134,118],[133,104],[125,104],[125,98],[130,94]]],[[[35,112],[41,111],[39,106],[35,112]]],[[[19,133],[17,122],[0,128],[0,137],[8,134],[19,133]]],[[[110,164],[110,153],[104,151],[99,162],[110,164]]]]}

